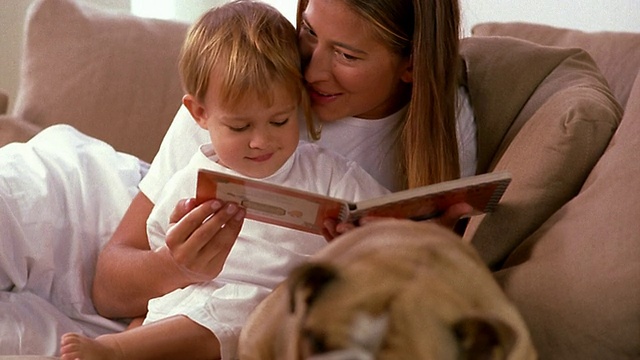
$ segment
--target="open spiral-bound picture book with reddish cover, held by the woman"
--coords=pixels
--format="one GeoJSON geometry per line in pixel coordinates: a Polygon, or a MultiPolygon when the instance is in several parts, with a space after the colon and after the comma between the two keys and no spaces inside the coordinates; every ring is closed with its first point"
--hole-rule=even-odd
{"type": "Polygon", "coordinates": [[[218,199],[246,209],[248,219],[322,234],[327,218],[357,223],[363,216],[427,220],[451,205],[466,202],[470,215],[493,211],[511,182],[508,172],[492,172],[403,190],[351,203],[298,189],[200,169],[198,204],[218,199]]]}

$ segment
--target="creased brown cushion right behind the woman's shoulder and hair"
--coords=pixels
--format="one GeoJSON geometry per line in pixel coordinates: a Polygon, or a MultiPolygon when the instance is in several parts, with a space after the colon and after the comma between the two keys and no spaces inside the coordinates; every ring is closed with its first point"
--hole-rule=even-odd
{"type": "Polygon", "coordinates": [[[499,268],[578,193],[622,110],[583,50],[508,37],[472,37],[462,48],[478,125],[478,170],[513,176],[500,206],[471,218],[464,237],[499,268]],[[487,138],[495,150],[487,149],[487,138]]]}

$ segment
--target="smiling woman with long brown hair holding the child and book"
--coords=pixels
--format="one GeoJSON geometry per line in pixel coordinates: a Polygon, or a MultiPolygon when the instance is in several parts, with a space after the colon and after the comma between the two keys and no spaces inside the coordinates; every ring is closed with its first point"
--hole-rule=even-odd
{"type": "MultiPolygon", "coordinates": [[[[356,160],[393,191],[475,172],[475,124],[457,85],[457,0],[300,0],[297,25],[322,146],[356,160]]],[[[99,256],[93,296],[103,316],[143,316],[149,299],[214,278],[242,227],[233,204],[203,223],[214,213],[211,203],[183,200],[167,247],[150,251],[145,222],[154,201],[207,141],[186,116],[178,112],[99,256]]],[[[468,211],[452,206],[441,221],[450,225],[468,211]]],[[[348,227],[327,228],[335,236],[348,227]]]]}

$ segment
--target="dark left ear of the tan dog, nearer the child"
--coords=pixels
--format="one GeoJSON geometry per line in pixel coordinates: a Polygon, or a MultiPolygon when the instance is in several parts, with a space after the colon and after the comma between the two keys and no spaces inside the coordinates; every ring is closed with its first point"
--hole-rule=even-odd
{"type": "Polygon", "coordinates": [[[289,309],[296,311],[296,302],[310,306],[322,290],[338,278],[338,270],[329,264],[306,263],[289,274],[289,309]]]}

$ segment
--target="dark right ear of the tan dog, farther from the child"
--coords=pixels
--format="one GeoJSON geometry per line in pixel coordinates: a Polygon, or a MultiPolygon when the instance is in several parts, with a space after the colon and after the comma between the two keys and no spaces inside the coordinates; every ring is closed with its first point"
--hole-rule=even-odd
{"type": "Polygon", "coordinates": [[[507,359],[516,340],[515,330],[504,321],[487,316],[468,316],[453,331],[460,344],[459,359],[507,359]]]}

